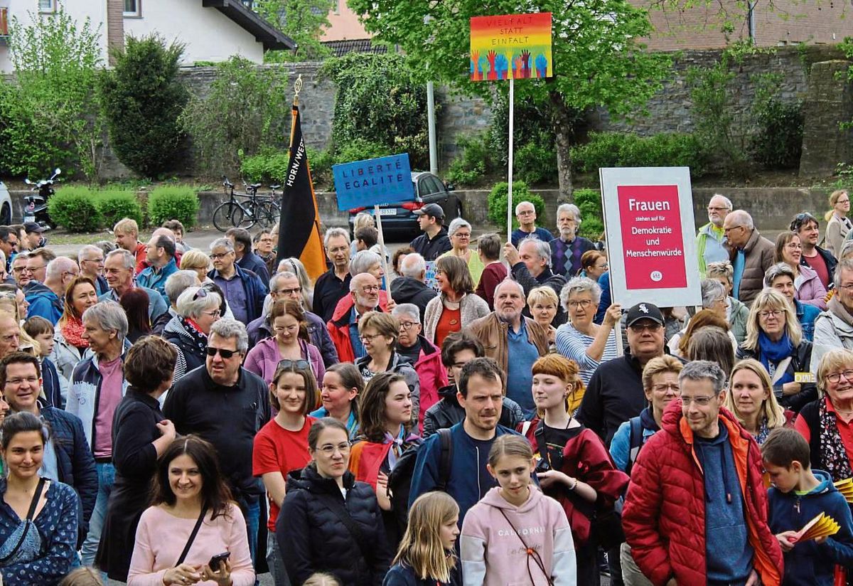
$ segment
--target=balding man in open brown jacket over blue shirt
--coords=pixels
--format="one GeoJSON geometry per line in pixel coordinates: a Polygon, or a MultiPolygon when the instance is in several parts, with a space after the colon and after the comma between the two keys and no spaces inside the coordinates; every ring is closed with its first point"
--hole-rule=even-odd
{"type": "Polygon", "coordinates": [[[539,357],[548,353],[548,332],[525,317],[524,309],[524,287],[505,279],[495,288],[495,310],[471,322],[467,329],[483,342],[486,357],[507,373],[507,397],[519,403],[529,421],[536,414],[531,368],[539,357]]]}

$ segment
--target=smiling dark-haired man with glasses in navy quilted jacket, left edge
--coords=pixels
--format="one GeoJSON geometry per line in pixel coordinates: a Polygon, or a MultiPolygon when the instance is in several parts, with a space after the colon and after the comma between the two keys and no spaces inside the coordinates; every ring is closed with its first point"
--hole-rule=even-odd
{"type": "Polygon", "coordinates": [[[46,479],[73,487],[80,497],[78,542],[89,532],[89,519],[98,496],[95,457],[89,450],[83,423],[72,415],[39,403],[42,374],[38,358],[26,352],[12,352],[0,360],[0,386],[13,413],[28,411],[49,425],[49,443],[39,471],[46,479]]]}

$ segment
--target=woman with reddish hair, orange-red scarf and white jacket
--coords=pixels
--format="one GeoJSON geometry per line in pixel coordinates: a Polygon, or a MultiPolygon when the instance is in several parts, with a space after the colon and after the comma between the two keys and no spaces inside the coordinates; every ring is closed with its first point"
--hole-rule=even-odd
{"type": "Polygon", "coordinates": [[[83,338],[83,312],[97,302],[95,282],[88,276],[75,276],[65,290],[65,310],[56,323],[50,362],[66,380],[71,380],[74,367],[89,348],[89,341],[83,338]]]}

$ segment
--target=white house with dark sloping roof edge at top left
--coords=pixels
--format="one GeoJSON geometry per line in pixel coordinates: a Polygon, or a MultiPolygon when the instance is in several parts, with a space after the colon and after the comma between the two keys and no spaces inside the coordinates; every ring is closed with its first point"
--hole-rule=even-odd
{"type": "Polygon", "coordinates": [[[12,20],[30,25],[60,9],[100,26],[104,63],[108,49],[124,44],[128,35],[157,33],[167,43],[183,43],[184,65],[225,61],[232,55],[262,63],[265,50],[296,46],[241,0],[0,0],[0,73],[12,69],[5,43],[12,20]]]}

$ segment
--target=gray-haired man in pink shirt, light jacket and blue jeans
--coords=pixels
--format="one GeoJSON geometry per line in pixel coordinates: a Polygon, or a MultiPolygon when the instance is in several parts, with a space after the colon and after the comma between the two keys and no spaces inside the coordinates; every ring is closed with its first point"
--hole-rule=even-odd
{"type": "Polygon", "coordinates": [[[66,410],[83,422],[98,472],[95,510],[82,547],[86,565],[95,561],[113,490],[113,413],[127,390],[123,369],[125,350],[129,347],[126,336],[127,316],[118,303],[105,300],[84,311],[83,339],[89,342],[92,355],[74,368],[66,410]]]}

